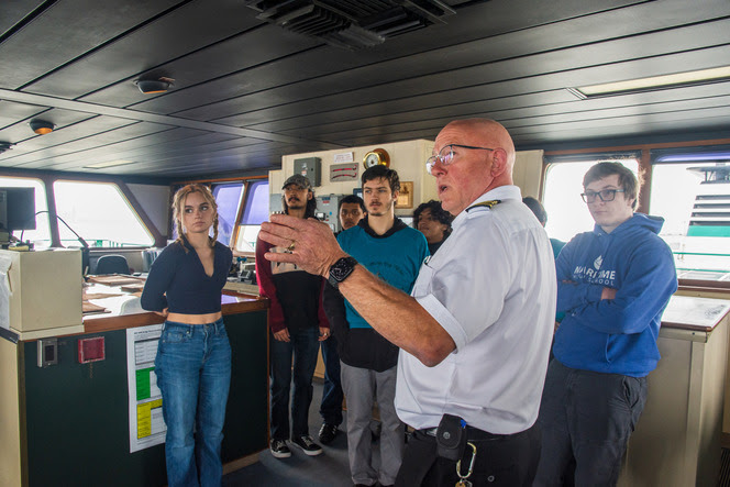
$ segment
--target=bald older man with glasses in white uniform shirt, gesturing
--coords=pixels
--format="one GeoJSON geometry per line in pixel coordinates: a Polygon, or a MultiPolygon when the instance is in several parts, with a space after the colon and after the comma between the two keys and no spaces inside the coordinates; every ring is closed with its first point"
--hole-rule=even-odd
{"type": "Polygon", "coordinates": [[[555,316],[548,236],[512,185],[515,146],[491,120],[451,122],[427,167],[453,233],[420,269],[412,296],[380,281],[339,248],[327,225],[275,215],[262,239],[329,277],[383,336],[401,348],[396,406],[417,431],[397,485],[529,486],[540,455],[535,419],[555,316]],[[450,419],[468,445],[436,447],[450,419]],[[456,452],[456,456],[454,455],[456,452]],[[461,474],[456,460],[462,460],[461,474]]]}

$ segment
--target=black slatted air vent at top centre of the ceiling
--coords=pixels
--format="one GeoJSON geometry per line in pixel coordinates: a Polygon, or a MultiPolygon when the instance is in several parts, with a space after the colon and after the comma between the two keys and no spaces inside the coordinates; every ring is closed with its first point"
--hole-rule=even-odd
{"type": "Polygon", "coordinates": [[[325,43],[358,49],[445,23],[456,13],[440,0],[253,0],[258,19],[325,43]]]}

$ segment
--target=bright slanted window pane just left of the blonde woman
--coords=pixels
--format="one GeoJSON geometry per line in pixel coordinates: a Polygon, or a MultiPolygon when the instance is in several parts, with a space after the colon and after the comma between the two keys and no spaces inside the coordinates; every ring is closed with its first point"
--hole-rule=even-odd
{"type": "MultiPolygon", "coordinates": [[[[154,239],[117,185],[57,180],[53,185],[58,215],[91,247],[148,246],[154,239]]],[[[58,223],[65,246],[79,240],[58,223]]]]}

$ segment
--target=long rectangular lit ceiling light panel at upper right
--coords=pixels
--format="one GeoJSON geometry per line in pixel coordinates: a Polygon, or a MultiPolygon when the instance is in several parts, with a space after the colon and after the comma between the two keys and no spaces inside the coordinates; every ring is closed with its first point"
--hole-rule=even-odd
{"type": "Polygon", "coordinates": [[[729,81],[730,66],[697,71],[676,73],[674,75],[652,76],[650,78],[629,79],[626,81],[607,82],[602,85],[568,88],[580,99],[606,97],[612,95],[627,95],[642,91],[655,91],[685,86],[706,85],[710,82],[729,81]]]}

